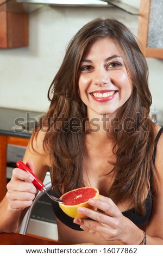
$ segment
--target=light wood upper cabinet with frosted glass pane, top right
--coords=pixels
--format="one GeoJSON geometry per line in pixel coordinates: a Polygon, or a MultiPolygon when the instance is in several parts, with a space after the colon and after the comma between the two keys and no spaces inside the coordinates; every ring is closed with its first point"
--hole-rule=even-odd
{"type": "Polygon", "coordinates": [[[141,0],[137,38],[145,57],[163,59],[163,1],[141,0]]]}

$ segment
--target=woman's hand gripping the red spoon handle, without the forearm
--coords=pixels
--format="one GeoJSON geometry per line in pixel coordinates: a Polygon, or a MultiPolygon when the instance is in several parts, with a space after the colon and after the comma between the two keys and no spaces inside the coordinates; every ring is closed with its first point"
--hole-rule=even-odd
{"type": "MultiPolygon", "coordinates": [[[[26,164],[34,171],[32,161],[26,164]]],[[[11,209],[20,211],[32,205],[37,193],[37,188],[32,183],[33,180],[34,178],[22,169],[15,168],[12,171],[6,194],[11,209]]]]}

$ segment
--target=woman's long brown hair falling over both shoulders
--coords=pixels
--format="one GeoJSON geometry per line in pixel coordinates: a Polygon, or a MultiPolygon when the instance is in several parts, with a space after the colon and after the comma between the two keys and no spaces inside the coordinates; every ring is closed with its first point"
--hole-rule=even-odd
{"type": "MultiPolygon", "coordinates": [[[[150,187],[153,170],[154,126],[149,119],[152,103],[148,89],[146,59],[137,45],[134,35],[121,22],[114,19],[96,19],[87,23],[72,38],[65,58],[48,90],[51,105],[40,129],[47,127],[43,145],[51,154],[51,178],[60,192],[84,186],[83,160],[86,106],[78,94],[79,65],[91,42],[109,37],[120,47],[128,75],[133,82],[133,92],[114,123],[113,152],[116,177],[107,192],[115,203],[130,199],[137,212],[145,214],[145,198],[150,187]],[[72,132],[72,120],[82,124],[72,132]],[[146,121],[145,121],[146,118],[146,121]],[[84,121],[83,121],[84,120],[84,121]],[[120,124],[126,129],[120,130],[120,124]],[[132,120],[135,120],[133,122],[132,120]],[[143,123],[145,121],[145,125],[143,123]]],[[[33,133],[33,138],[37,133],[33,133]]]]}

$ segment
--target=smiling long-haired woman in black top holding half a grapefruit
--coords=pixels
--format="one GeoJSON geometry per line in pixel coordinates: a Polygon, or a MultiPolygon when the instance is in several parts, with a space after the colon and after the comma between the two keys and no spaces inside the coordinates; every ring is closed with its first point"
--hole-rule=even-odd
{"type": "MultiPolygon", "coordinates": [[[[89,200],[96,211],[78,208],[89,217],[84,220],[52,202],[59,241],[162,245],[163,137],[149,119],[148,68],[133,34],[113,19],[87,23],[68,45],[48,98],[49,111],[23,161],[41,180],[50,169],[58,197],[82,186],[101,194],[89,200]]],[[[31,181],[13,170],[1,232],[16,231],[32,205],[37,191],[31,181]]]]}

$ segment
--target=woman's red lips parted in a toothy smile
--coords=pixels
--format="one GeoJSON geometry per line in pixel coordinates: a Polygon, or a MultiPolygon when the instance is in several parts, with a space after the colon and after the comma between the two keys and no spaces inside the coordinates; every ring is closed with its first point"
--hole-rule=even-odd
{"type": "Polygon", "coordinates": [[[117,94],[116,90],[96,90],[90,93],[93,100],[98,102],[106,102],[111,100],[117,94]]]}

